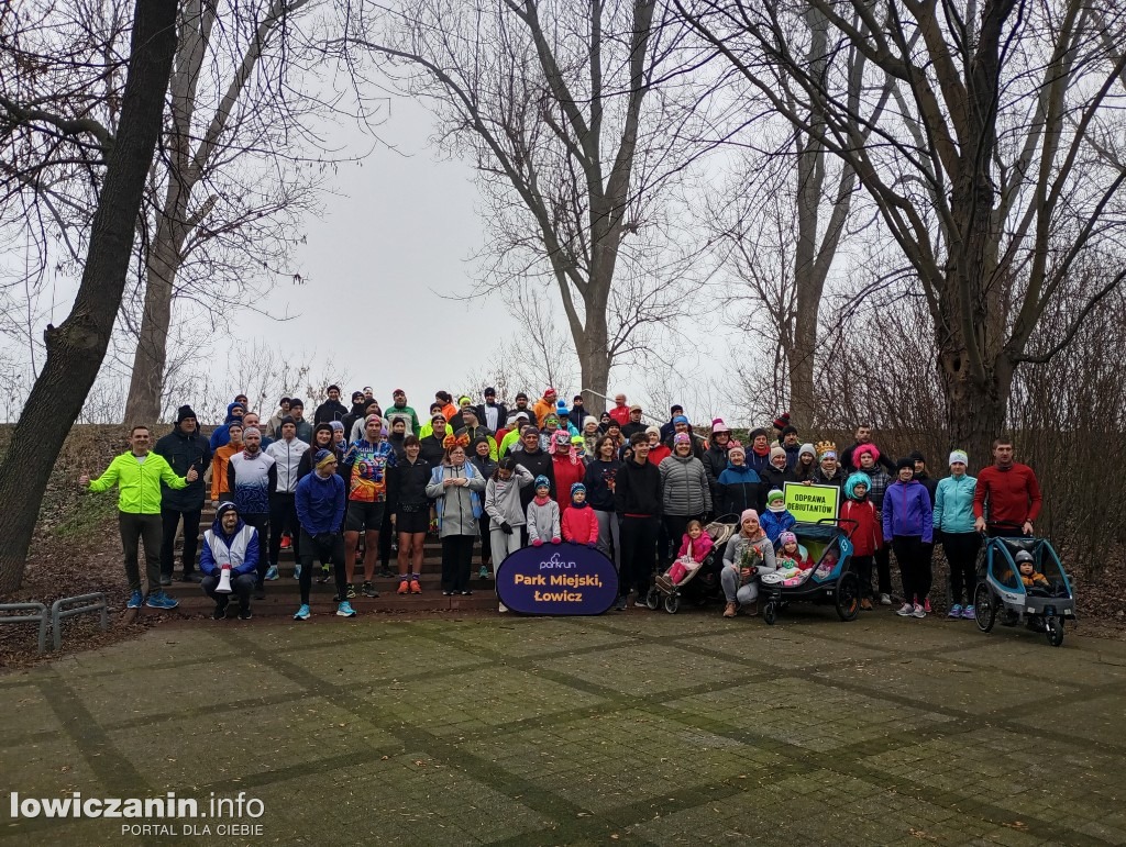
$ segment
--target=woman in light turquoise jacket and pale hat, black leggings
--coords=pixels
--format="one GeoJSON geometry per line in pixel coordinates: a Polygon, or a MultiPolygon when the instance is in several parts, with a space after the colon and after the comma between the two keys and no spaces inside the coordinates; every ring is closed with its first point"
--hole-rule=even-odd
{"type": "Polygon", "coordinates": [[[942,550],[950,564],[950,611],[947,618],[974,619],[974,588],[977,586],[977,551],[982,537],[974,531],[974,489],[977,480],[966,474],[964,450],[950,453],[950,476],[935,490],[935,529],[941,533],[942,550]],[[963,594],[963,591],[965,594],[963,594]],[[965,596],[966,605],[962,605],[965,596]]]}

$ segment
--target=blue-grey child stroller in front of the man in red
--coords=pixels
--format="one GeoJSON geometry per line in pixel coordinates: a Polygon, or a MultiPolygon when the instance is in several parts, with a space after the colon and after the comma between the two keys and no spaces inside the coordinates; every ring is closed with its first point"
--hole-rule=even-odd
{"type": "Polygon", "coordinates": [[[974,589],[974,611],[982,632],[993,629],[997,613],[1003,611],[1008,619],[1003,625],[1024,621],[1033,631],[1044,632],[1049,645],[1060,647],[1064,619],[1075,620],[1075,598],[1060,556],[1048,540],[1028,535],[986,539],[974,589]],[[1022,552],[1031,556],[1033,567],[1044,575],[1047,586],[1025,587],[1016,561],[1022,552]]]}

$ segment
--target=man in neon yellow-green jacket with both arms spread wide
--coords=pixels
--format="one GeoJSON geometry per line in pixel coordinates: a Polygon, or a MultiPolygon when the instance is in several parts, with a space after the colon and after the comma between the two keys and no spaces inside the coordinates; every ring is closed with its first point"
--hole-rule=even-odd
{"type": "MultiPolygon", "coordinates": [[[[125,550],[125,577],[129,580],[129,609],[144,603],[152,609],[176,609],[178,603],[160,587],[160,484],[182,488],[198,478],[195,466],[186,476],[176,471],[158,453],[149,452],[151,438],[148,426],[134,426],[129,433],[129,451],[109,462],[106,472],[95,480],[89,475],[79,477],[86,490],[104,492],[117,484],[117,523],[125,550]],[[137,568],[137,542],[144,541],[145,573],[149,579],[149,600],[141,593],[141,571],[137,568]]],[[[185,528],[187,529],[187,528],[185,528]]]]}

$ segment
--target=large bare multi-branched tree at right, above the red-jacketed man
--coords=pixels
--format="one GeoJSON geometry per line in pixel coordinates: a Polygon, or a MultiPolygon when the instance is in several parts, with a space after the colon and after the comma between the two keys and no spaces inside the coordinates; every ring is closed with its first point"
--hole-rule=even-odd
{"type": "Polygon", "coordinates": [[[673,2],[856,173],[932,317],[949,436],[983,450],[1018,366],[1056,357],[1126,277],[1044,337],[1078,268],[1092,255],[1121,267],[1126,11],[1109,0],[673,2]],[[828,22],[823,67],[794,36],[805,7],[828,22]],[[890,88],[894,110],[848,97],[851,51],[867,61],[865,92],[890,88]]]}

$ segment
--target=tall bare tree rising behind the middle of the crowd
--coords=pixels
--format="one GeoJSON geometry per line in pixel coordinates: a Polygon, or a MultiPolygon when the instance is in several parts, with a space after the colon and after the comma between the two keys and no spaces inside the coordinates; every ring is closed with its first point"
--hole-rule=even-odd
{"type": "Polygon", "coordinates": [[[401,90],[430,101],[440,139],[481,175],[499,256],[490,276],[551,281],[582,385],[597,394],[661,312],[653,298],[683,281],[647,254],[661,241],[661,189],[687,159],[682,125],[695,119],[694,103],[660,90],[678,30],[654,21],[655,9],[404,0],[334,43],[370,52],[401,90]]]}

